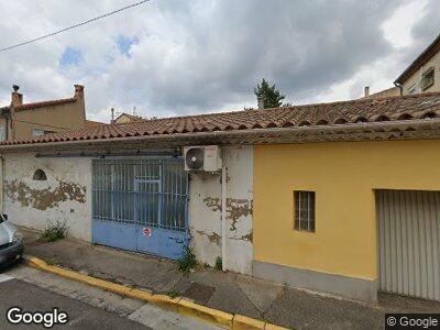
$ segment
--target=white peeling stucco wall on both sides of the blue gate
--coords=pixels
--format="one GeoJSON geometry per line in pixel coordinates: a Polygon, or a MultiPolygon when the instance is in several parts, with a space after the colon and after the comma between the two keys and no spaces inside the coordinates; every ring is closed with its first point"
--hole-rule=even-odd
{"type": "MultiPolygon", "coordinates": [[[[224,147],[227,175],[227,268],[251,274],[253,148],[224,147]]],[[[3,155],[3,210],[21,226],[43,230],[65,221],[69,234],[91,241],[91,160],[3,155]],[[41,168],[46,182],[33,180],[41,168]]],[[[197,260],[213,266],[221,256],[221,175],[191,174],[188,218],[197,260]]]]}

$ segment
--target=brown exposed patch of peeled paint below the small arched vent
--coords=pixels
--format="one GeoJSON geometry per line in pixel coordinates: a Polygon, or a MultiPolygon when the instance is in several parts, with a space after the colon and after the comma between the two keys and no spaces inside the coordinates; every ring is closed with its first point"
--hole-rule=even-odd
{"type": "Polygon", "coordinates": [[[18,179],[4,183],[4,194],[12,201],[18,201],[23,207],[32,207],[37,210],[52,209],[63,201],[86,202],[86,187],[78,184],[58,180],[58,186],[51,188],[31,188],[18,179]]]}

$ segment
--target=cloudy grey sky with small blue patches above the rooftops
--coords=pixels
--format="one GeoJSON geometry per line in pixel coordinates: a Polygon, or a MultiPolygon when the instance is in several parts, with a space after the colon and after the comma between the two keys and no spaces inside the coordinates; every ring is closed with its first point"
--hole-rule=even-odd
{"type": "MultiPolygon", "coordinates": [[[[135,0],[1,1],[0,48],[135,0]]],[[[293,103],[391,87],[439,33],[438,0],[151,0],[0,53],[0,106],[86,86],[88,118],[110,108],[145,117],[255,107],[265,77],[293,103]]]]}

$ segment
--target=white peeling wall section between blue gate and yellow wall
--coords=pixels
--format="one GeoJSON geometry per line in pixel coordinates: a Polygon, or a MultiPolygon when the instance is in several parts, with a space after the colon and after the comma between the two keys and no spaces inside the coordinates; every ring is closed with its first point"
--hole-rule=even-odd
{"type": "MultiPolygon", "coordinates": [[[[222,147],[227,174],[227,270],[252,272],[253,148],[222,147]]],[[[221,256],[221,175],[191,174],[189,180],[191,248],[199,262],[215,265],[221,256]]]]}

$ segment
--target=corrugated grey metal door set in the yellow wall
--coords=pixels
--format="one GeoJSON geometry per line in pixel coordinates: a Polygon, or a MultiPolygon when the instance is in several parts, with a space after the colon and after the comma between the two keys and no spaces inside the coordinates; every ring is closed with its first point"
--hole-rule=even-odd
{"type": "Polygon", "coordinates": [[[440,193],[377,190],[380,290],[440,300],[440,193]]]}

